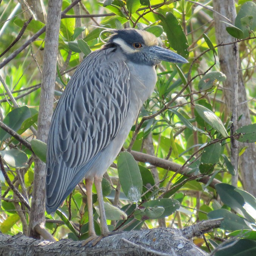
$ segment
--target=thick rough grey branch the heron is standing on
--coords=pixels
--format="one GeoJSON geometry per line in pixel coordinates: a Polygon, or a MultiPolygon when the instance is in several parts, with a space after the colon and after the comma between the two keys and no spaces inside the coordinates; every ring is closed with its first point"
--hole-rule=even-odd
{"type": "Polygon", "coordinates": [[[202,221],[183,228],[153,228],[113,234],[101,239],[95,246],[89,242],[81,246],[81,241],[61,239],[57,242],[40,241],[22,234],[9,236],[0,233],[1,256],[53,256],[53,255],[161,255],[161,256],[204,256],[204,251],[191,242],[192,237],[211,232],[219,227],[222,219],[202,221]]]}

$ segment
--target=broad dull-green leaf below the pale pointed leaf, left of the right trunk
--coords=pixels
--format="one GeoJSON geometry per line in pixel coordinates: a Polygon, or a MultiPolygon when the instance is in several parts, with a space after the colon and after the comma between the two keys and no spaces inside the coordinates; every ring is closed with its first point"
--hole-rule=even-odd
{"type": "Polygon", "coordinates": [[[221,156],[221,144],[219,142],[212,143],[204,148],[201,156],[201,163],[217,163],[221,156]]]}

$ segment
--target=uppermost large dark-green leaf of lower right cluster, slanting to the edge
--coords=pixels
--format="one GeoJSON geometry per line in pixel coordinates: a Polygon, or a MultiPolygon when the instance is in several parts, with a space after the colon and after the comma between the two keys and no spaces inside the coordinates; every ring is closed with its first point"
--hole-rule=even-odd
{"type": "Polygon", "coordinates": [[[246,204],[244,197],[235,190],[236,188],[234,186],[220,183],[216,184],[215,188],[225,205],[247,218],[248,221],[254,221],[250,214],[244,209],[244,205],[246,204]]]}

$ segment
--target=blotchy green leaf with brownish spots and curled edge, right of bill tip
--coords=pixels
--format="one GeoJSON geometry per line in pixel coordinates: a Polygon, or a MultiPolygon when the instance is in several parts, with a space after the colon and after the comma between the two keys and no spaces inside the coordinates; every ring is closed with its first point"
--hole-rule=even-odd
{"type": "Polygon", "coordinates": [[[204,77],[202,77],[202,79],[200,79],[198,83],[198,89],[199,91],[210,89],[216,85],[217,81],[223,82],[226,79],[227,77],[222,72],[209,72],[204,77]]]}

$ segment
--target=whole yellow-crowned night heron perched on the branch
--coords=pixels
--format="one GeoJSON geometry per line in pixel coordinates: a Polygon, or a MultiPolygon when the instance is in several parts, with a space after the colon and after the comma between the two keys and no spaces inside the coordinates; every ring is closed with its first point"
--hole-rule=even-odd
{"type": "Polygon", "coordinates": [[[47,142],[46,211],[52,213],[84,177],[93,225],[92,185],[96,186],[102,235],[108,234],[102,176],[125,142],[143,103],[156,84],[161,60],[187,63],[157,46],[157,38],[137,29],[114,30],[101,49],[74,72],[52,116],[47,142]]]}

